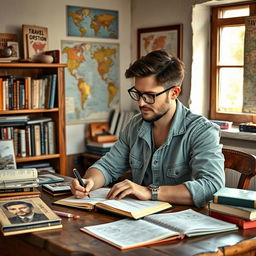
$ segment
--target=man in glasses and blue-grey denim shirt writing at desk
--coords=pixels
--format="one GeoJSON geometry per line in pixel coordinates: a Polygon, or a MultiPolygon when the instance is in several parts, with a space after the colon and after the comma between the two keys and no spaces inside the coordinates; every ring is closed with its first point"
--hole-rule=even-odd
{"type": "Polygon", "coordinates": [[[87,170],[85,188],[73,180],[73,194],[88,195],[131,169],[132,181],[116,183],[109,199],[134,196],[205,205],[224,186],[224,158],[219,128],[177,99],[183,62],[163,50],[153,51],[135,61],[125,75],[135,78],[128,92],[141,113],[128,123],[111,151],[87,170]]]}

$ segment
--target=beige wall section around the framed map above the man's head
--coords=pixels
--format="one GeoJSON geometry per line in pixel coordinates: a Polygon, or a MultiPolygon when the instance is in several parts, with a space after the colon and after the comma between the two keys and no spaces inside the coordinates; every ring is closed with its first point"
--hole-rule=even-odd
{"type": "Polygon", "coordinates": [[[132,0],[132,59],[137,58],[137,29],[183,24],[183,61],[186,76],[180,100],[188,106],[191,76],[191,1],[132,0]]]}

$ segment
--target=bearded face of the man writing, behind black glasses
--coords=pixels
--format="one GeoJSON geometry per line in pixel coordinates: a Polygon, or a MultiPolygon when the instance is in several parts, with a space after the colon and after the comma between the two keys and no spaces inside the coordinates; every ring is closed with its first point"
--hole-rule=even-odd
{"type": "MultiPolygon", "coordinates": [[[[154,76],[135,79],[135,89],[141,93],[147,92],[156,94],[166,88],[157,84],[154,76]]],[[[155,98],[154,104],[146,103],[142,97],[138,101],[142,118],[148,122],[154,122],[163,117],[171,107],[169,92],[163,93],[155,98]]]]}

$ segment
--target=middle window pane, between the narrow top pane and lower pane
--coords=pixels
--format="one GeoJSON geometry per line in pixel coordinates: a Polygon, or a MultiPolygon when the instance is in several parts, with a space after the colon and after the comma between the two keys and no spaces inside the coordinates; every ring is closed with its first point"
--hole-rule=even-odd
{"type": "Polygon", "coordinates": [[[243,65],[245,26],[220,30],[220,65],[243,65]]]}

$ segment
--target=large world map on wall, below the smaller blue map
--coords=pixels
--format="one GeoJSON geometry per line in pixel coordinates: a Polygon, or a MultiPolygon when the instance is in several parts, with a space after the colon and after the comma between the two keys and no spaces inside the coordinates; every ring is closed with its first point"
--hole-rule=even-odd
{"type": "Polygon", "coordinates": [[[107,120],[119,104],[119,45],[62,41],[66,121],[107,120]]]}

